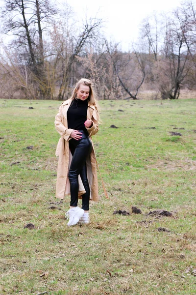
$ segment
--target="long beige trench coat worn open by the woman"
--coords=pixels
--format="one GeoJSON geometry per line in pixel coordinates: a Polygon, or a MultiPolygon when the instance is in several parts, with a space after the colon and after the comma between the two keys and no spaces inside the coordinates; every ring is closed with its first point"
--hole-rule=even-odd
{"type": "MultiPolygon", "coordinates": [[[[63,199],[65,195],[70,194],[70,182],[68,178],[68,172],[72,161],[72,154],[69,149],[69,140],[71,139],[70,135],[73,129],[68,128],[67,111],[70,107],[71,102],[72,100],[68,99],[61,104],[59,108],[59,113],[56,115],[54,121],[55,128],[57,132],[61,135],[56,148],[56,156],[59,157],[56,181],[56,197],[59,199],[63,199]]],[[[88,104],[87,119],[91,119],[93,122],[93,126],[91,128],[86,128],[92,141],[91,136],[98,132],[98,111],[95,106],[90,104],[90,102],[88,104]]],[[[89,180],[90,186],[90,200],[98,201],[98,177],[94,147],[91,154],[87,158],[86,164],[87,178],[89,180]]],[[[78,177],[78,181],[78,198],[81,199],[81,195],[85,193],[85,189],[80,176],[78,177]]]]}

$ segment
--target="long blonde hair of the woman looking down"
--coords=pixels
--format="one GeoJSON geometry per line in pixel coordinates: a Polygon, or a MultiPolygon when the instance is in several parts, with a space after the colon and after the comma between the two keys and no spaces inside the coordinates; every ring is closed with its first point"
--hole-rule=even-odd
{"type": "MultiPolygon", "coordinates": [[[[80,88],[80,85],[83,84],[85,86],[88,86],[89,87],[89,96],[88,96],[88,100],[90,101],[90,104],[95,106],[97,111],[99,110],[99,107],[98,107],[98,100],[97,100],[97,94],[94,90],[94,87],[93,87],[93,82],[91,80],[88,80],[88,79],[85,79],[85,78],[82,78],[80,79],[76,85],[75,85],[75,88],[73,89],[73,92],[72,92],[72,95],[70,97],[70,99],[74,99],[76,98],[76,92],[77,90],[80,88]]],[[[98,122],[100,121],[99,119],[99,114],[98,114],[98,122]]]]}

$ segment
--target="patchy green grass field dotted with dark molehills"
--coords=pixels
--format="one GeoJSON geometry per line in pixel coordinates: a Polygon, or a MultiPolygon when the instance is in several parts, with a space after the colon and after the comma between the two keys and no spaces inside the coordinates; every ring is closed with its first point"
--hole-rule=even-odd
{"type": "Polygon", "coordinates": [[[100,101],[110,199],[99,177],[91,224],[70,228],[69,198],[55,199],[59,105],[0,100],[0,295],[196,294],[196,100],[100,101]]]}

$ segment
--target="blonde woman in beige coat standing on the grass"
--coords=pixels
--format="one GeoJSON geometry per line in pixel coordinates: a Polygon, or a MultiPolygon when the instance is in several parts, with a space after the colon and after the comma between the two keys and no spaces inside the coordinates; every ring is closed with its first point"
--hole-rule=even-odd
{"type": "Polygon", "coordinates": [[[88,79],[76,83],[70,99],[63,102],[55,117],[55,128],[61,135],[56,197],[71,194],[68,226],[78,221],[89,223],[89,200],[98,201],[96,157],[91,136],[98,132],[98,104],[88,79]],[[77,206],[78,197],[82,208],[77,206]]]}

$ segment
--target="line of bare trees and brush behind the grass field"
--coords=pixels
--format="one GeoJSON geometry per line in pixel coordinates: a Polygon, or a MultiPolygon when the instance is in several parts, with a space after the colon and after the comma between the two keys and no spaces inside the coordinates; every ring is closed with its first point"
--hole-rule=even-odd
{"type": "Polygon", "coordinates": [[[141,90],[178,99],[180,89],[196,89],[192,0],[145,18],[128,52],[104,36],[102,19],[78,25],[68,4],[4,0],[1,20],[10,41],[1,41],[0,98],[66,100],[81,77],[95,83],[99,99],[138,99],[141,90]]]}

